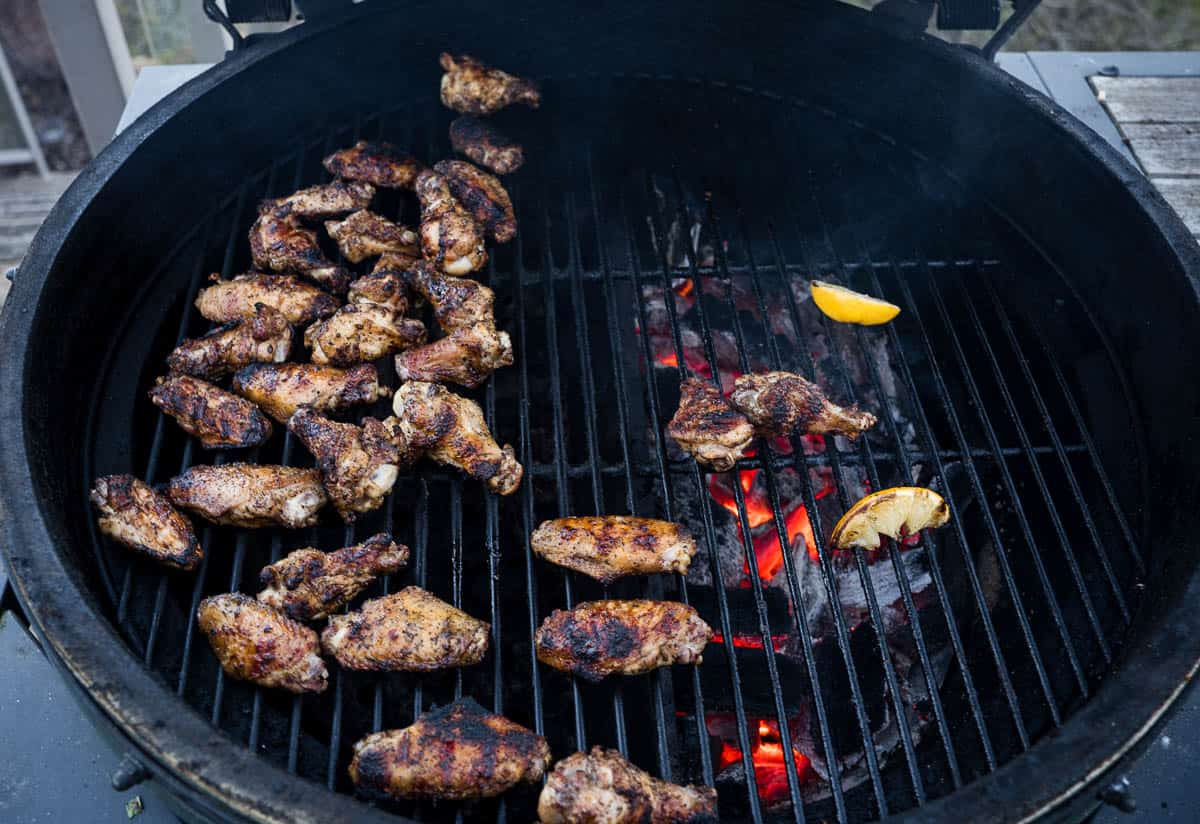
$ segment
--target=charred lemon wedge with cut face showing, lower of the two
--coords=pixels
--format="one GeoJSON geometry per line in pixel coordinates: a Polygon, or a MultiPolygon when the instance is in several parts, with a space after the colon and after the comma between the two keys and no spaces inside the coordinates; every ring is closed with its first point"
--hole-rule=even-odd
{"type": "Polygon", "coordinates": [[[900,539],[922,529],[936,529],[950,519],[942,497],[924,487],[880,489],[850,507],[833,528],[835,549],[878,549],[880,536],[900,539]]]}

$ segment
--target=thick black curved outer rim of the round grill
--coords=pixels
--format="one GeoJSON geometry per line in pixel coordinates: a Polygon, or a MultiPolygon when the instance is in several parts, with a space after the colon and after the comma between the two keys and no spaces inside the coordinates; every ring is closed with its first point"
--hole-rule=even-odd
{"type": "MultiPolygon", "coordinates": [[[[34,435],[24,417],[29,407],[26,374],[35,368],[30,362],[31,331],[43,285],[65,240],[86,222],[95,197],[160,126],[277,52],[385,11],[360,6],[319,24],[306,23],[254,49],[232,55],[152,107],[89,164],[55,205],[34,239],[18,270],[6,311],[0,315],[0,347],[4,348],[0,415],[6,421],[0,427],[0,480],[4,481],[0,552],[8,563],[18,599],[50,652],[49,657],[68,676],[72,691],[82,698],[89,714],[140,753],[156,778],[173,792],[181,790],[185,802],[222,818],[404,820],[367,807],[349,795],[292,776],[266,759],[257,758],[224,732],[214,735],[208,720],[190,705],[186,712],[180,712],[186,702],[178,699],[151,672],[130,666],[137,656],[121,640],[102,606],[90,597],[80,570],[66,563],[67,555],[56,547],[42,503],[34,492],[34,456],[26,449],[34,435]],[[14,513],[20,516],[13,517],[14,513]],[[170,722],[161,718],[170,718],[170,722]],[[137,735],[131,734],[134,730],[137,735]]],[[[1176,255],[1192,294],[1200,289],[1200,249],[1182,221],[1136,168],[1073,115],[964,49],[925,35],[904,32],[895,24],[858,10],[847,7],[826,13],[858,16],[857,24],[889,35],[898,47],[931,49],[973,82],[1000,85],[1007,94],[1018,95],[1032,116],[1048,121],[1063,140],[1073,142],[1090,162],[1098,163],[1102,172],[1122,184],[1176,255]]],[[[1172,595],[1170,603],[1152,602],[1135,620],[1132,637],[1140,642],[1136,649],[1126,648],[1121,668],[1104,679],[1091,700],[1075,711],[1057,734],[1043,738],[995,772],[949,796],[914,808],[900,820],[918,817],[920,820],[962,820],[967,811],[978,817],[982,804],[988,805],[982,811],[985,813],[998,816],[1002,808],[1006,816],[1022,811],[1019,814],[1027,818],[1088,800],[1084,790],[1102,781],[1147,740],[1200,668],[1200,614],[1177,608],[1198,595],[1200,566],[1190,571],[1186,589],[1172,595]],[[1159,620],[1164,617],[1170,620],[1159,620]],[[1151,625],[1148,630],[1147,624],[1151,625]],[[1147,690],[1147,685],[1151,688],[1147,690]],[[1108,745],[1103,752],[1108,754],[1096,765],[1094,733],[1098,729],[1104,732],[1108,745]],[[1046,762],[1081,766],[1045,770],[1042,764],[1046,762]],[[1003,807],[996,805],[998,800],[1006,802],[1003,807]]]]}

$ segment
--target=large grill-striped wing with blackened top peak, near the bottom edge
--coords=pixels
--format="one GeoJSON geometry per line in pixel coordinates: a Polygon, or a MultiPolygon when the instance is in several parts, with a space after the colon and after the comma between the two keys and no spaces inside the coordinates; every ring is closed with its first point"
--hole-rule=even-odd
{"type": "Polygon", "coordinates": [[[367,795],[481,799],[541,781],[548,765],[546,739],[460,698],[356,742],[350,781],[367,795]]]}

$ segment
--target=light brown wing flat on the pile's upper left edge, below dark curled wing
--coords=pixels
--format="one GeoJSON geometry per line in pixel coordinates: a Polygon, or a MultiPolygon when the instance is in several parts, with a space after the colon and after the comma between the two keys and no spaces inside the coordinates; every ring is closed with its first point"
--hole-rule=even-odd
{"type": "Polygon", "coordinates": [[[196,296],[196,308],[205,319],[217,324],[254,317],[259,303],[270,306],[288,319],[289,324],[311,324],[337,311],[341,301],[311,283],[290,275],[246,272],[230,281],[216,281],[196,296]]]}

